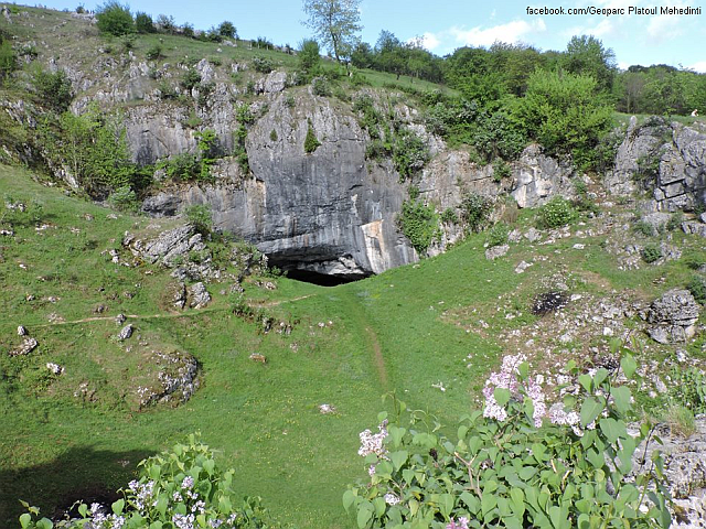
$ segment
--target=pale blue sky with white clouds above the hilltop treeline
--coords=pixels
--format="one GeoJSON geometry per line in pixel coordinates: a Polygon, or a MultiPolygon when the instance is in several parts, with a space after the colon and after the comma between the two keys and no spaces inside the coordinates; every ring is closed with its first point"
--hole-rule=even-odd
{"type": "MultiPolygon", "coordinates": [[[[18,2],[20,3],[20,2],[18,2]]],[[[46,0],[44,6],[75,9],[79,0],[46,0]]],[[[87,9],[97,3],[83,0],[87,9]]],[[[125,3],[125,2],[124,2],[125,3]]],[[[463,45],[488,46],[495,40],[524,42],[542,50],[564,50],[575,34],[591,34],[611,47],[619,66],[671,64],[706,72],[706,0],[547,0],[526,3],[477,0],[362,0],[362,37],[374,44],[381,30],[400,40],[422,36],[425,46],[445,55],[463,45]],[[700,8],[693,15],[528,15],[527,7],[700,8]]],[[[301,25],[304,13],[299,0],[168,1],[133,0],[131,10],[154,17],[171,14],[179,24],[191,22],[208,29],[223,20],[232,21],[244,39],[267,36],[276,44],[291,44],[310,35],[301,25]]]]}

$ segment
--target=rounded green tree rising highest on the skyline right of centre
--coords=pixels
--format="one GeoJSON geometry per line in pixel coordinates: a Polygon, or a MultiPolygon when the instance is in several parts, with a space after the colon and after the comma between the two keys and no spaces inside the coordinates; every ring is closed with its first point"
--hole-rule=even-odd
{"type": "Polygon", "coordinates": [[[564,67],[576,75],[590,75],[600,90],[610,91],[616,78],[616,54],[591,35],[573,36],[566,46],[564,67]]]}

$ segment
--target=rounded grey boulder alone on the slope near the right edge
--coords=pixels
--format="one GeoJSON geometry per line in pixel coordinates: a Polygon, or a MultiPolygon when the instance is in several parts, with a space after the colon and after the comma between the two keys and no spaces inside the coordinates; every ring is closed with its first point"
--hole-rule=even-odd
{"type": "Polygon", "coordinates": [[[688,290],[670,290],[650,305],[648,333],[661,344],[686,342],[696,332],[698,315],[699,306],[688,290]]]}

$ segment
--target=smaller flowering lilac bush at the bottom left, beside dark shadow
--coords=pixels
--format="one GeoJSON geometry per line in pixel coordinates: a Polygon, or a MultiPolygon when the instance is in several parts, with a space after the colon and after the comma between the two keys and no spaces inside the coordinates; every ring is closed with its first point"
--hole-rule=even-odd
{"type": "Polygon", "coordinates": [[[169,452],[148,457],[138,464],[137,479],[122,490],[124,498],[108,506],[81,504],[81,519],[52,525],[46,518],[33,520],[36,507],[24,506],[29,512],[20,517],[22,529],[51,527],[83,529],[84,527],[223,527],[258,529],[265,527],[265,510],[260,498],[240,499],[232,488],[235,471],[221,471],[213,452],[189,435],[186,444],[176,444],[169,452]],[[109,512],[111,510],[111,512],[109,512]],[[194,514],[195,512],[195,514],[194,514]],[[196,522],[196,520],[199,520],[196,522]]]}

